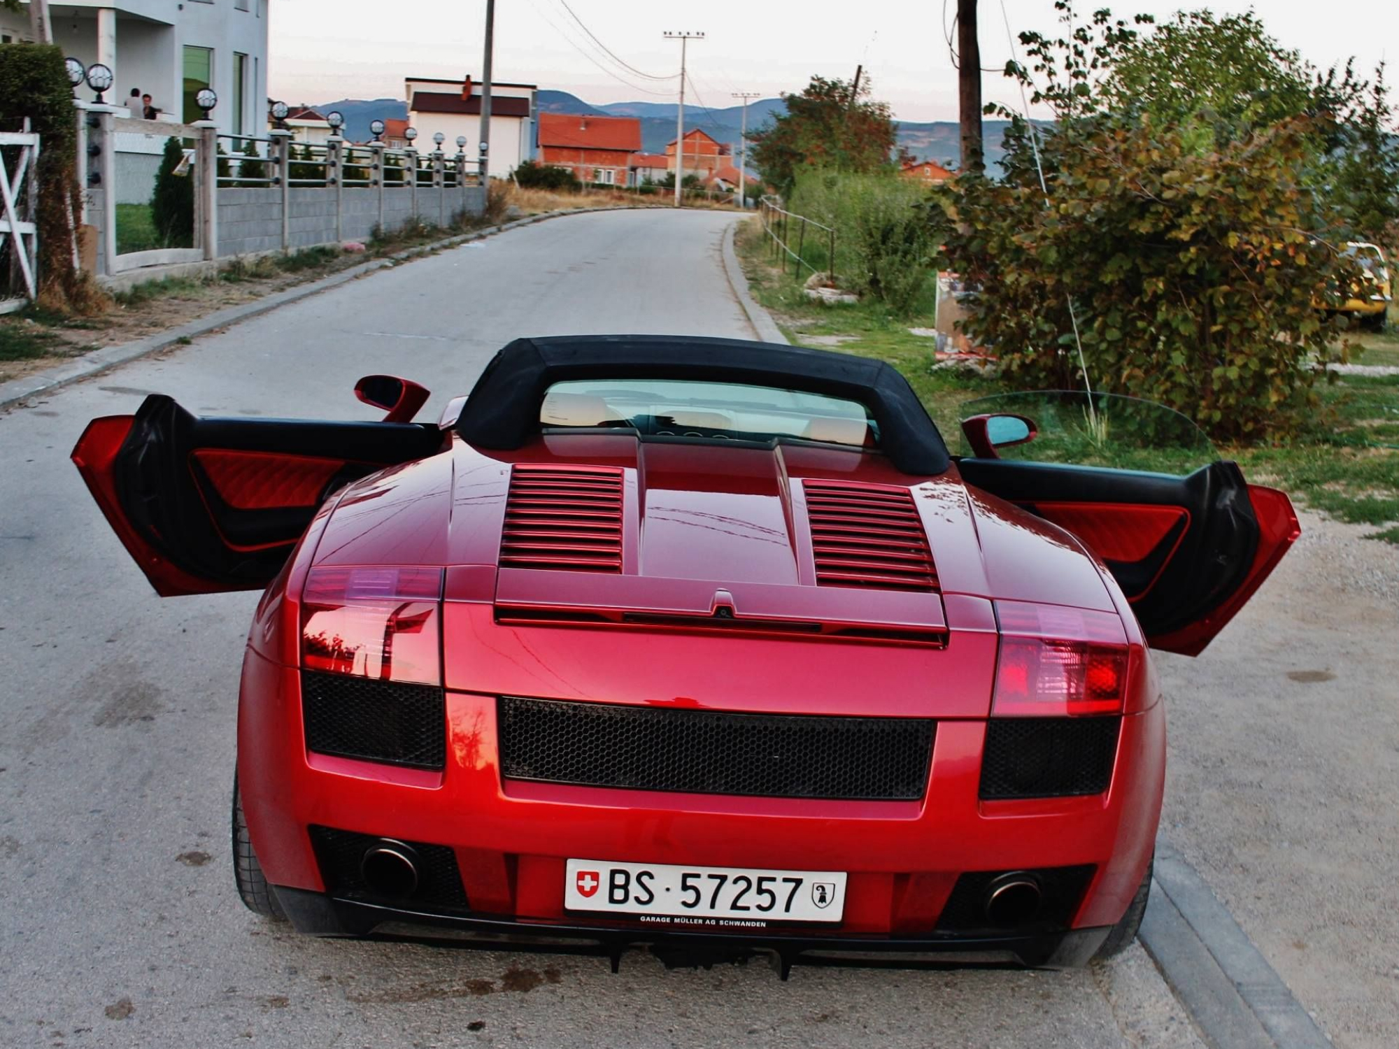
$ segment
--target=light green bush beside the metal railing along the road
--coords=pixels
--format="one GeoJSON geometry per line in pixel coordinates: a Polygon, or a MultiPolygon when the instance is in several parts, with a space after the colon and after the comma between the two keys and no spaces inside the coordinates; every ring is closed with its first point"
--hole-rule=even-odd
{"type": "MultiPolygon", "coordinates": [[[[825,235],[811,228],[803,243],[804,262],[835,273],[841,287],[907,315],[933,273],[936,239],[926,221],[926,200],[921,183],[893,172],[813,169],[799,172],[788,210],[835,229],[835,259],[828,257],[825,235]]],[[[789,239],[795,231],[793,224],[789,239]]]]}

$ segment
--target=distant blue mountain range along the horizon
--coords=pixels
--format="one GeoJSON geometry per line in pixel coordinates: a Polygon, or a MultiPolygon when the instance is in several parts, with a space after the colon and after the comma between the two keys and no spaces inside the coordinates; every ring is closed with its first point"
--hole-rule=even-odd
{"type": "MultiPolygon", "coordinates": [[[[641,148],[646,152],[665,152],[666,143],[676,138],[674,102],[609,102],[595,106],[567,91],[544,90],[539,92],[539,108],[546,113],[578,113],[579,116],[635,116],[641,119],[641,148]]],[[[402,120],[409,115],[407,104],[396,98],[357,99],[343,98],[339,102],[318,105],[322,113],[339,109],[346,117],[346,133],[355,140],[369,137],[371,120],[402,120]]],[[[748,130],[754,131],[767,123],[769,116],[783,113],[786,104],[781,98],[762,98],[748,102],[748,130]]],[[[720,143],[739,145],[743,123],[743,108],[709,109],[700,105],[686,105],[686,129],[698,127],[720,143]]],[[[1000,140],[1007,127],[1006,120],[986,120],[986,164],[993,166],[1002,157],[1000,140]]],[[[932,120],[928,123],[898,122],[898,144],[921,161],[953,162],[961,152],[961,134],[956,120],[932,120]]]]}

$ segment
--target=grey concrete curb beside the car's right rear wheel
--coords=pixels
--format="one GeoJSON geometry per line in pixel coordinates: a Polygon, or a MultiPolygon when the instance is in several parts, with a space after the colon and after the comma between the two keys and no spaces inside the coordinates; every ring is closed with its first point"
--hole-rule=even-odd
{"type": "Polygon", "coordinates": [[[1213,1049],[1330,1049],[1234,916],[1164,841],[1140,939],[1213,1049]]]}

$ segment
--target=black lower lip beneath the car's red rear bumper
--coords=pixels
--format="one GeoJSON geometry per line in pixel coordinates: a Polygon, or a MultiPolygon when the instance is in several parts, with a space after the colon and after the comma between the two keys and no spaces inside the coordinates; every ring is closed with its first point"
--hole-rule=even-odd
{"type": "Polygon", "coordinates": [[[467,918],[354,899],[337,899],[323,892],[277,887],[277,901],[297,932],[309,936],[372,936],[393,927],[395,939],[438,940],[485,950],[557,950],[610,955],[646,947],[667,965],[695,965],[750,955],[771,955],[783,976],[792,965],[900,965],[939,966],[949,964],[1014,962],[1028,966],[1076,968],[1086,965],[1111,929],[1074,929],[1024,936],[939,936],[939,937],[855,937],[855,936],[748,936],[691,932],[656,933],[651,929],[617,929],[586,923],[539,923],[495,918],[467,918]],[[406,936],[397,930],[409,926],[406,936]]]}

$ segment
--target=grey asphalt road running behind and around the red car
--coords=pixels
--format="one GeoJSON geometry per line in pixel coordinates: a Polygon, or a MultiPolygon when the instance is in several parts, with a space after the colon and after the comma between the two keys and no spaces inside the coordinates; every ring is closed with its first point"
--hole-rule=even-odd
{"type": "Polygon", "coordinates": [[[69,463],[147,392],[206,414],[369,418],[355,379],[464,393],[518,334],[751,333],[732,215],[576,215],[381,271],[0,417],[0,1043],[1191,1046],[1139,947],[1077,972],[666,972],[318,941],[229,869],[256,594],[161,600],[69,463]]]}

